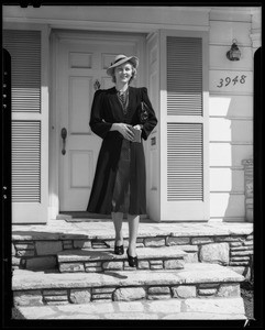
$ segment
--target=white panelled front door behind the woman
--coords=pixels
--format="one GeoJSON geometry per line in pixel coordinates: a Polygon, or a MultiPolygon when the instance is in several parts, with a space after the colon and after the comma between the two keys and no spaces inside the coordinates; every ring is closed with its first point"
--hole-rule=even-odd
{"type": "Polygon", "coordinates": [[[142,37],[64,32],[58,40],[59,211],[85,211],[102,141],[89,127],[93,94],[113,87],[106,69],[115,55],[136,55],[141,62],[142,37]]]}

